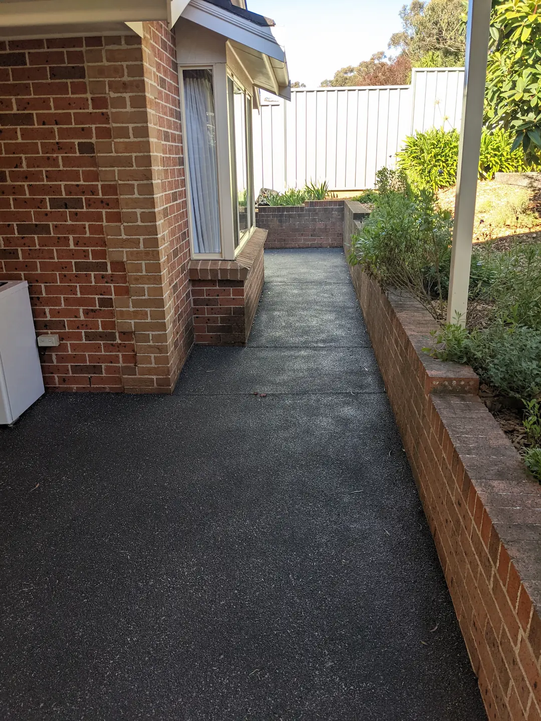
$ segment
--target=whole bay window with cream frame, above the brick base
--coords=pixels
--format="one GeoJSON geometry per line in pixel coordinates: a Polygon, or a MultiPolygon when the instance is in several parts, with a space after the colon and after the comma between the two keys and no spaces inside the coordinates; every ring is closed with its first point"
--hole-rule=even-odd
{"type": "Polygon", "coordinates": [[[215,63],[182,68],[182,99],[192,252],[234,260],[255,225],[252,98],[215,63]]]}

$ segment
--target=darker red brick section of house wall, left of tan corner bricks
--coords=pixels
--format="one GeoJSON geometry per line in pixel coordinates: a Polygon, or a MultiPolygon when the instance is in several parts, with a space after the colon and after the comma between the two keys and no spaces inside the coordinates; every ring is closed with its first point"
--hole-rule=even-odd
{"type": "Polygon", "coordinates": [[[30,283],[36,329],[58,332],[43,356],[49,387],[120,389],[135,363],[114,303],[126,268],[107,257],[105,226],[120,221],[118,187],[100,178],[110,141],[108,98],[92,92],[85,53],[98,38],[0,44],[0,272],[30,283]]]}

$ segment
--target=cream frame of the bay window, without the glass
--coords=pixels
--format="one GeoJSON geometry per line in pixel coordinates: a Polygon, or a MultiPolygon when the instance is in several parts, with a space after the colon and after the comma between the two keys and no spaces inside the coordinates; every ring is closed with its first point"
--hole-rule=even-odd
{"type": "MultiPolygon", "coordinates": [[[[242,88],[247,97],[250,97],[253,107],[252,93],[245,88],[244,84],[232,73],[226,63],[191,63],[190,65],[179,65],[179,86],[180,86],[180,107],[182,122],[182,149],[184,154],[185,169],[185,185],[186,185],[186,203],[188,205],[188,228],[190,234],[190,255],[195,260],[234,260],[242,247],[255,230],[255,198],[253,188],[253,150],[251,147],[252,139],[247,137],[247,172],[251,174],[251,221],[252,226],[247,229],[239,239],[237,248],[234,247],[234,218],[233,218],[233,193],[237,193],[237,187],[233,187],[232,183],[232,159],[229,152],[229,105],[227,97],[227,78],[230,76],[233,81],[242,88]],[[190,159],[188,157],[188,146],[185,138],[188,137],[186,129],[186,113],[185,113],[185,96],[184,96],[184,71],[185,70],[211,70],[212,83],[214,89],[214,114],[216,120],[216,156],[218,164],[218,212],[220,219],[220,235],[221,235],[221,252],[219,253],[199,253],[195,252],[193,247],[193,216],[192,216],[192,198],[190,188],[190,159]]],[[[246,111],[247,112],[247,111],[246,111]]],[[[248,115],[248,113],[247,113],[248,115]]],[[[252,118],[250,121],[250,134],[252,131],[252,118]]],[[[247,136],[248,136],[247,125],[247,136]]]]}

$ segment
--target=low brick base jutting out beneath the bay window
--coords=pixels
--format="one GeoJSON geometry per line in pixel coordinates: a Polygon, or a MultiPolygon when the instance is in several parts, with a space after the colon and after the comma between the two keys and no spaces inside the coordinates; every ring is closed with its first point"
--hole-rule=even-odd
{"type": "Polygon", "coordinates": [[[193,260],[195,342],[245,345],[263,290],[266,231],[256,229],[234,261],[193,260]]]}

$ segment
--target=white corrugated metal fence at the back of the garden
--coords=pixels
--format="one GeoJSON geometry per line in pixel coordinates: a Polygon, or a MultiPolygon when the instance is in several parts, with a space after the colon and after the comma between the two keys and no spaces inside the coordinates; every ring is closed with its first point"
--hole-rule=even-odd
{"type": "Polygon", "coordinates": [[[412,84],[293,90],[291,102],[263,98],[254,111],[255,189],[327,181],[331,190],[374,187],[394,167],[406,136],[458,128],[462,68],[415,68],[412,84]]]}

